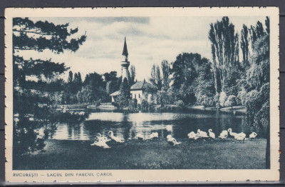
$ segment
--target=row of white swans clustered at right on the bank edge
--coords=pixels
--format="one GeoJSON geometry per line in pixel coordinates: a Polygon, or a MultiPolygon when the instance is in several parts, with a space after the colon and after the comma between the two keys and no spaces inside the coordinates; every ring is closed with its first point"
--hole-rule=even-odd
{"type": "MultiPolygon", "coordinates": [[[[194,140],[197,140],[198,138],[216,138],[215,134],[212,132],[212,129],[210,128],[208,130],[208,133],[209,133],[209,136],[207,135],[207,132],[205,131],[201,131],[200,129],[197,130],[197,133],[195,133],[194,131],[188,133],[188,138],[190,139],[194,139],[194,140]]],[[[228,130],[224,130],[222,131],[218,138],[221,138],[221,139],[226,139],[228,136],[233,136],[235,140],[237,141],[240,141],[240,142],[244,142],[245,140],[247,140],[246,138],[246,134],[241,132],[241,133],[234,133],[232,131],[232,128],[229,128],[228,130]]],[[[249,140],[253,140],[254,138],[257,137],[257,133],[253,132],[249,135],[249,140]]]]}

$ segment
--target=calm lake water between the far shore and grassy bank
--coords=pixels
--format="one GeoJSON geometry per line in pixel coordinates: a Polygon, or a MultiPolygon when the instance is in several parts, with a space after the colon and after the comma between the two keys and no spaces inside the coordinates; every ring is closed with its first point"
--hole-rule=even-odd
{"type": "Polygon", "coordinates": [[[119,113],[119,112],[92,112],[89,118],[78,124],[59,124],[53,139],[61,140],[94,140],[97,133],[107,136],[113,131],[115,136],[125,139],[134,138],[142,133],[145,137],[157,132],[159,138],[166,138],[172,134],[175,138],[187,138],[190,131],[197,129],[207,131],[212,128],[216,136],[228,128],[234,132],[257,132],[258,138],[265,137],[265,131],[260,128],[246,125],[243,114],[223,113],[221,111],[190,110],[185,112],[166,113],[119,113]],[[171,125],[172,130],[167,131],[166,126],[171,125]]]}

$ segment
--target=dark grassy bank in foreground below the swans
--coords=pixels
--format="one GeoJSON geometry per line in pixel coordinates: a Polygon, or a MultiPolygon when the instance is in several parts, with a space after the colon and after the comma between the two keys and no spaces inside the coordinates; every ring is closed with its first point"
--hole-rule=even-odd
{"type": "Polygon", "coordinates": [[[265,168],[266,139],[239,143],[234,139],[190,141],[172,147],[165,139],[108,142],[48,140],[45,151],[14,156],[15,170],[41,169],[261,169],[265,168]]]}

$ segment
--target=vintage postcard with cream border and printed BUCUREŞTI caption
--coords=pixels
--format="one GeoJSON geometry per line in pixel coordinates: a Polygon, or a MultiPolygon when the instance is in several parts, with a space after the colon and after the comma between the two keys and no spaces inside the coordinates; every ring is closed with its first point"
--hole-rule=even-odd
{"type": "Polygon", "coordinates": [[[279,181],[279,9],[6,9],[7,182],[279,181]]]}

